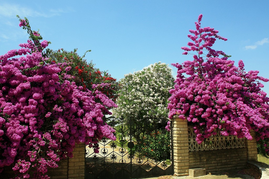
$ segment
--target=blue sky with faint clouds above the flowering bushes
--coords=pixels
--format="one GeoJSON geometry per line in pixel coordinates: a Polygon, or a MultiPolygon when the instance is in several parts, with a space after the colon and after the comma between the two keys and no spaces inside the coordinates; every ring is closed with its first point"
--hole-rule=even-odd
{"type": "MultiPolygon", "coordinates": [[[[0,54],[17,49],[28,34],[18,26],[27,17],[32,30],[40,30],[48,48],[78,48],[85,59],[120,79],[161,61],[183,63],[189,29],[203,14],[202,27],[213,27],[228,41],[222,50],[246,71],[258,70],[269,78],[269,1],[6,1],[0,3],[0,54]]],[[[171,67],[171,65],[170,65],[171,67]]],[[[176,69],[173,69],[173,75],[176,69]]],[[[269,82],[263,90],[269,94],[269,82]]],[[[268,95],[267,95],[268,96],[268,95]]]]}

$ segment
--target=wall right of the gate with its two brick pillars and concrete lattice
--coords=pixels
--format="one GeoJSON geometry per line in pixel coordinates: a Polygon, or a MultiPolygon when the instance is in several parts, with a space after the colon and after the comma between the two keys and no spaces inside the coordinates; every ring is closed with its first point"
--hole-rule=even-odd
{"type": "Polygon", "coordinates": [[[193,138],[189,138],[188,133],[191,131],[188,132],[187,120],[174,116],[171,122],[176,176],[189,175],[189,169],[192,168],[204,168],[207,171],[241,169],[247,166],[247,161],[257,161],[254,131],[251,131],[253,140],[213,136],[207,139],[208,144],[198,146],[194,144],[193,138]]]}

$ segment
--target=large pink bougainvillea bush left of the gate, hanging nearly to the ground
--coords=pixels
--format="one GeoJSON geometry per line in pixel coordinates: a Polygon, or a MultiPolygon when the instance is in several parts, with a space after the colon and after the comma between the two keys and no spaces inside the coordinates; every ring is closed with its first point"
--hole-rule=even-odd
{"type": "Polygon", "coordinates": [[[14,165],[15,178],[49,178],[47,169],[72,157],[76,143],[115,140],[102,118],[116,105],[98,88],[69,80],[71,67],[44,53],[49,42],[40,42],[27,19],[19,25],[30,39],[0,56],[0,171],[14,165]]]}

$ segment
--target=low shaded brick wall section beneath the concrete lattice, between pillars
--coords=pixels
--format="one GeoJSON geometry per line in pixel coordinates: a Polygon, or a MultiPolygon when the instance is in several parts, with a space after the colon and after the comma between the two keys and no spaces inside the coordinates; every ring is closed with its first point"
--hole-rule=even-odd
{"type": "Polygon", "coordinates": [[[189,167],[206,171],[242,169],[247,165],[247,149],[222,149],[189,152],[189,167]]]}

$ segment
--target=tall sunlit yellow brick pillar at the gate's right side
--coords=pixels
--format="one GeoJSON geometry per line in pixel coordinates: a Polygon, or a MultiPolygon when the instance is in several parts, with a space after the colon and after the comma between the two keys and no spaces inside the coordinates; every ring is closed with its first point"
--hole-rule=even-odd
{"type": "Polygon", "coordinates": [[[174,116],[172,119],[174,174],[189,175],[189,142],[186,119],[174,116]]]}

